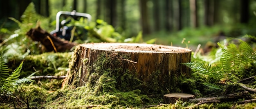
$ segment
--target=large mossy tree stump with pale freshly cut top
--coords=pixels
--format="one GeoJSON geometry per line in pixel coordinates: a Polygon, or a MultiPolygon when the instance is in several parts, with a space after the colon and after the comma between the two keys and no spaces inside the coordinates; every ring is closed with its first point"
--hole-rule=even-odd
{"type": "Polygon", "coordinates": [[[189,75],[182,65],[191,50],[155,44],[92,43],[76,47],[64,85],[88,86],[103,92],[141,90],[144,94],[174,91],[177,77],[189,75]],[[112,82],[110,82],[112,81],[112,82]]]}

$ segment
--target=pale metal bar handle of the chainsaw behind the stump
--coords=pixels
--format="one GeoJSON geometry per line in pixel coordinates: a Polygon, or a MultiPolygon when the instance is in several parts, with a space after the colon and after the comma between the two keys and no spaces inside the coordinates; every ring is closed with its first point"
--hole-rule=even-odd
{"type": "Polygon", "coordinates": [[[92,16],[90,14],[88,14],[88,13],[77,13],[76,10],[73,10],[72,12],[70,12],[70,11],[59,11],[56,14],[56,29],[54,31],[51,31],[50,34],[54,34],[54,33],[58,32],[61,29],[61,26],[60,26],[60,17],[61,17],[61,15],[73,15],[73,16],[87,17],[88,22],[90,22],[91,19],[92,19],[92,16]]]}

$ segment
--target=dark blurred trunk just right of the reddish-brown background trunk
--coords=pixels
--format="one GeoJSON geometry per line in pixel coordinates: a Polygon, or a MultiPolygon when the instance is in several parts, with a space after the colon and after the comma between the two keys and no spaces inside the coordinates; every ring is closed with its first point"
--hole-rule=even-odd
{"type": "Polygon", "coordinates": [[[214,0],[204,0],[204,24],[212,26],[214,23],[214,0]]]}

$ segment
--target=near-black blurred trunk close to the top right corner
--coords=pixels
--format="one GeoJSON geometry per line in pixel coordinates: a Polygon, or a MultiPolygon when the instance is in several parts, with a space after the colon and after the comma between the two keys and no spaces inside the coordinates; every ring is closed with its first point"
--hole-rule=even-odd
{"type": "Polygon", "coordinates": [[[249,0],[240,0],[241,11],[240,11],[240,22],[248,23],[249,21],[249,0]]]}

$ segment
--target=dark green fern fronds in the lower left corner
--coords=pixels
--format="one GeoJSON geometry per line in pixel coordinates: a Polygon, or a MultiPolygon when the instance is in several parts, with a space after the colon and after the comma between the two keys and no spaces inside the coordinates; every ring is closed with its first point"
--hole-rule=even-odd
{"type": "MultiPolygon", "coordinates": [[[[20,72],[22,69],[23,61],[20,63],[18,68],[14,70],[11,74],[9,74],[8,66],[5,65],[6,62],[4,61],[3,54],[0,55],[0,102],[11,102],[16,101],[17,104],[26,104],[24,102],[24,99],[17,98],[17,96],[22,95],[20,94],[23,90],[20,90],[18,86],[24,84],[24,83],[31,83],[33,80],[30,79],[30,77],[34,74],[31,74],[30,76],[19,78],[20,72]],[[18,93],[17,93],[18,92],[18,93]],[[23,102],[22,102],[23,100],[23,102]]],[[[21,88],[21,86],[20,86],[21,88]]],[[[22,89],[22,88],[21,88],[22,89]]],[[[15,103],[13,102],[13,105],[15,107],[15,103]]],[[[27,105],[28,107],[28,105],[27,105]]]]}

